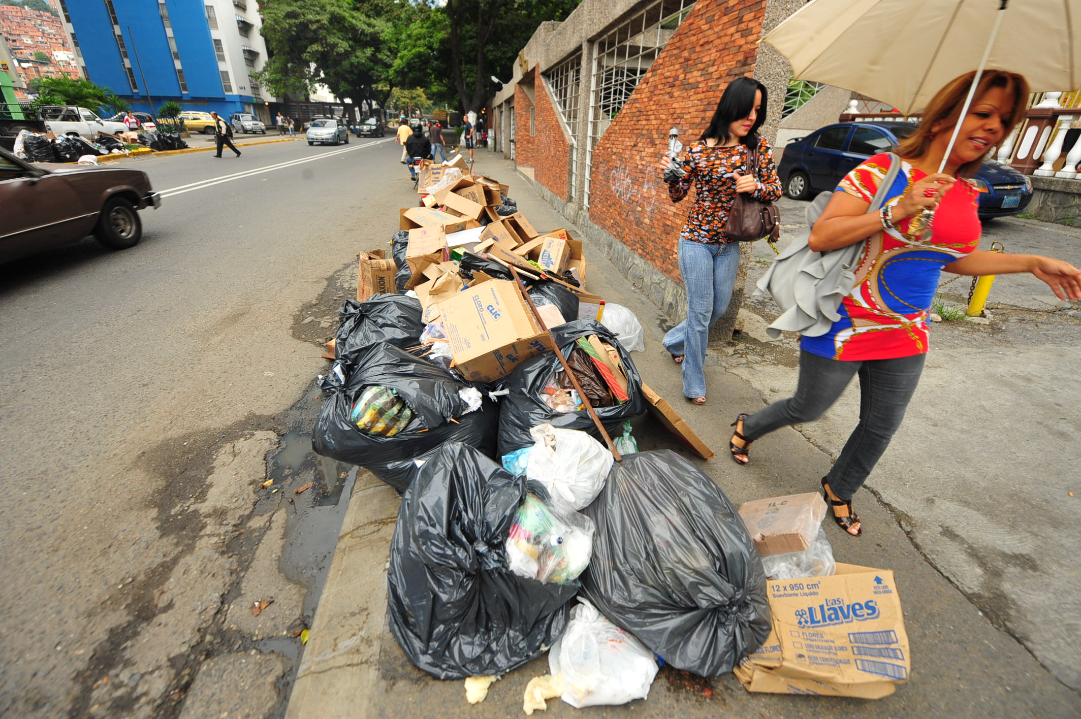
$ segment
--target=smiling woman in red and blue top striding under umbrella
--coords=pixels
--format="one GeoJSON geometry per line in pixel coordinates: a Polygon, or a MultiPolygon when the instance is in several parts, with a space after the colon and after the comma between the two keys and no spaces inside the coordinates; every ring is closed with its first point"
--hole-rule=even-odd
{"type": "Polygon", "coordinates": [[[808,241],[822,252],[864,239],[856,284],[829,332],[804,336],[796,394],[733,426],[732,458],[747,464],[750,443],[774,429],[817,418],[859,375],[859,424],[822,484],[837,523],[858,536],[852,510],[859,489],[900,426],[929,346],[927,316],[942,270],[956,275],[1031,272],[1062,299],[1081,298],[1081,270],[1040,255],[992,253],[979,245],[976,188],[965,177],[1024,117],[1028,83],[1019,75],[986,70],[967,115],[960,118],[975,72],[938,91],[915,133],[897,147],[900,172],[880,212],[868,213],[889,155],[876,155],[845,175],[808,241]],[[939,173],[955,127],[961,130],[939,173]],[[930,234],[913,222],[934,209],[930,234]]]}

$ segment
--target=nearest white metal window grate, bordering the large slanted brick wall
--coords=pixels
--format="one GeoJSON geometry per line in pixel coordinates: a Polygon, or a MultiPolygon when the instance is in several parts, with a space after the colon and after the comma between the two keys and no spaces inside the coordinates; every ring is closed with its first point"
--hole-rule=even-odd
{"type": "Polygon", "coordinates": [[[593,149],[653,62],[694,9],[694,0],[657,0],[597,40],[589,98],[586,182],[589,208],[593,149]]]}

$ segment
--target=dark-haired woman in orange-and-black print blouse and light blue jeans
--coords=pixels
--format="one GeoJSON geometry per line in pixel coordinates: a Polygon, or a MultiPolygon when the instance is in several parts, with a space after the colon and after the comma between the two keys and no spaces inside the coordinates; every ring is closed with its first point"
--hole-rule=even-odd
{"type": "MultiPolygon", "coordinates": [[[[729,307],[739,245],[728,237],[729,211],[736,192],[773,202],[780,198],[780,179],[770,144],[758,134],[766,112],[765,85],[737,78],[724,90],[709,127],[676,158],[681,172],[666,172],[672,202],[695,186],[695,203],[679,236],[679,269],[686,290],[686,319],[665,335],[672,359],[683,367],[683,395],[706,403],[703,363],[709,328],[729,307]],[[757,147],[758,179],[749,171],[748,155],[757,147]],[[678,176],[681,175],[682,176],[678,176]]],[[[669,169],[669,158],[662,167],[669,169]]]]}

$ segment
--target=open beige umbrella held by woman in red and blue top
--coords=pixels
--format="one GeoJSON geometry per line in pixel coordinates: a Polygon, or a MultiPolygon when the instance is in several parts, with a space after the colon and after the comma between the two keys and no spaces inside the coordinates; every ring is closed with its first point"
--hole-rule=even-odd
{"type": "Polygon", "coordinates": [[[1033,92],[1081,86],[1081,0],[813,0],[762,42],[788,58],[795,79],[903,115],[984,67],[1019,72],[1033,92]]]}

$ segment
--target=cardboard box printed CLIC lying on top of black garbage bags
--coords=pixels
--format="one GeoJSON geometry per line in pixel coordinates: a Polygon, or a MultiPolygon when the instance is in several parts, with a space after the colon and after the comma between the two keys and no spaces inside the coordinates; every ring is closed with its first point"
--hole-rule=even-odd
{"type": "Polygon", "coordinates": [[[473,382],[495,382],[552,348],[515,282],[490,280],[439,303],[455,367],[473,382]]]}

